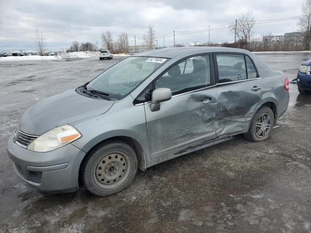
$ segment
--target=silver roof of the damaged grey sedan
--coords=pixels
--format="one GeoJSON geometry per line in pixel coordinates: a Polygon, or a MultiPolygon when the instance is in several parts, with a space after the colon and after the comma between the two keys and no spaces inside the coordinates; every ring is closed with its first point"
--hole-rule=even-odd
{"type": "Polygon", "coordinates": [[[204,52],[243,52],[250,53],[247,50],[226,48],[226,47],[178,47],[178,48],[165,48],[159,50],[149,50],[145,52],[139,52],[133,56],[145,56],[145,57],[165,57],[173,58],[182,53],[192,52],[195,53],[204,53],[204,52]]]}

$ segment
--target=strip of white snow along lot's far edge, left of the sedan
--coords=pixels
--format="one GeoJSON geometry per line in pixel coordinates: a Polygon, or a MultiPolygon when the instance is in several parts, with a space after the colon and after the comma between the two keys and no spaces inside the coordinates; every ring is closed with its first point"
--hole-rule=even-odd
{"type": "MultiPolygon", "coordinates": [[[[0,62],[3,61],[29,61],[29,60],[53,60],[59,58],[89,58],[89,57],[99,57],[99,51],[79,51],[79,52],[67,52],[58,56],[39,56],[39,55],[29,55],[29,56],[9,56],[0,57],[0,62]]],[[[113,54],[113,56],[129,56],[124,54],[113,54]]]]}

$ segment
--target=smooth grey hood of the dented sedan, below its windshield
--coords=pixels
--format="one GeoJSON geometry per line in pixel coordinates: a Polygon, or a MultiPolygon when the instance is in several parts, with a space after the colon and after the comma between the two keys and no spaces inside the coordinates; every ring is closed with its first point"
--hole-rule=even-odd
{"type": "Polygon", "coordinates": [[[23,133],[41,135],[57,126],[104,114],[114,101],[93,99],[70,90],[28,108],[18,123],[23,133]]]}

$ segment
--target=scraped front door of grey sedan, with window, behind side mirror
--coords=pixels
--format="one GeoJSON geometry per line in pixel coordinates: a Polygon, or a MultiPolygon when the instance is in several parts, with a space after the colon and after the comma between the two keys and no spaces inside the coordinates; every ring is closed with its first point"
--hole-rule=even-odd
{"type": "Polygon", "coordinates": [[[158,111],[145,103],[151,158],[178,153],[216,137],[217,93],[211,54],[189,57],[164,71],[154,89],[170,88],[172,99],[158,111]]]}

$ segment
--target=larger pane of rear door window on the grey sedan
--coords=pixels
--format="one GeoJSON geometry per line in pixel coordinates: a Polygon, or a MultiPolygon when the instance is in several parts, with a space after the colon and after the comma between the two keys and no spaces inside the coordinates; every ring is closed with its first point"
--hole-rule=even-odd
{"type": "MultiPolygon", "coordinates": [[[[216,54],[219,83],[227,83],[246,79],[244,55],[216,54]]],[[[255,67],[254,67],[255,68],[255,67]]]]}

